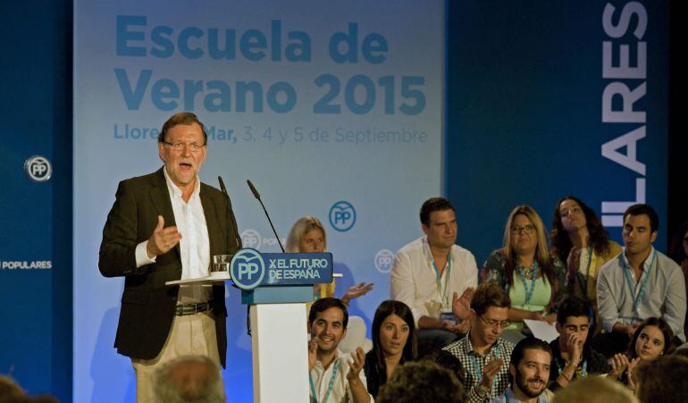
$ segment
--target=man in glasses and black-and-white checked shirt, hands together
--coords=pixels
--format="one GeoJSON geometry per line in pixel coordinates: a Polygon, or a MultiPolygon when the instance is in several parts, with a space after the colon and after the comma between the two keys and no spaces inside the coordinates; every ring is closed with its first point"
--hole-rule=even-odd
{"type": "Polygon", "coordinates": [[[499,284],[481,284],[470,303],[471,330],[445,347],[466,369],[468,401],[486,402],[508,388],[508,365],[514,345],[501,339],[509,325],[511,301],[499,284]]]}

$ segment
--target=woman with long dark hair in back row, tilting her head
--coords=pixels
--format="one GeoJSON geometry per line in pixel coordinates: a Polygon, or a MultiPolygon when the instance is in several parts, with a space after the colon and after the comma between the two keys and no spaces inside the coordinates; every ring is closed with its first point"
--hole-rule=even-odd
{"type": "Polygon", "coordinates": [[[607,230],[592,208],[573,196],[559,200],[554,209],[550,247],[552,254],[566,261],[568,294],[592,306],[591,327],[594,333],[599,332],[597,273],[603,264],[621,253],[621,247],[608,239],[607,230]]]}

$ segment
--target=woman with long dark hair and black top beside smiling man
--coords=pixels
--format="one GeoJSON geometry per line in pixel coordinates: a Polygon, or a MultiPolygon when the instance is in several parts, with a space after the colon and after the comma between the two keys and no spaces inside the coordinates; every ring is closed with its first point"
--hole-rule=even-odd
{"type": "Polygon", "coordinates": [[[411,308],[400,301],[382,302],[373,317],[373,349],[365,355],[365,379],[368,392],[377,397],[380,387],[394,369],[415,360],[415,322],[411,308]]]}

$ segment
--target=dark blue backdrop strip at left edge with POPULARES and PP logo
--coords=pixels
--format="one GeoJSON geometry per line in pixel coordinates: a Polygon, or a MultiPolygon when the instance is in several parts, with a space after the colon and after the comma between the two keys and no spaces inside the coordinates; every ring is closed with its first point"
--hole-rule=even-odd
{"type": "Polygon", "coordinates": [[[0,374],[70,401],[71,2],[0,13],[0,374]]]}

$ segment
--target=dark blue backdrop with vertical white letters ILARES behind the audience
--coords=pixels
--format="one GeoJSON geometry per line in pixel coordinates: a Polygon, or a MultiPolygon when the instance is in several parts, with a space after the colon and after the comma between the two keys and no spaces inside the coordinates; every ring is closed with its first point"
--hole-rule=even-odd
{"type": "Polygon", "coordinates": [[[668,2],[449,2],[449,21],[446,189],[479,265],[521,204],[550,227],[575,195],[617,240],[634,201],[666,225],[668,2]]]}

